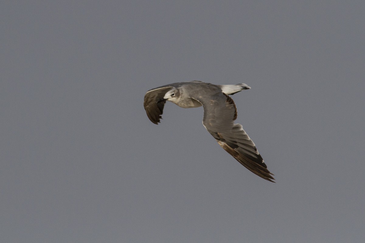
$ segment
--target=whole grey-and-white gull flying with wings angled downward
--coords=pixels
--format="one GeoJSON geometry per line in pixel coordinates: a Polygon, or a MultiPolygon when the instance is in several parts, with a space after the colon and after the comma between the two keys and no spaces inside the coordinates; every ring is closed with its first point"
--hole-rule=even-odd
{"type": "Polygon", "coordinates": [[[241,124],[234,124],[237,108],[233,95],[251,89],[245,83],[237,85],[213,85],[201,81],[171,83],[151,89],[145,94],[144,107],[147,117],[154,124],[160,122],[166,101],[183,108],[203,106],[203,125],[218,144],[238,162],[265,180],[275,180],[254,142],[241,124]]]}

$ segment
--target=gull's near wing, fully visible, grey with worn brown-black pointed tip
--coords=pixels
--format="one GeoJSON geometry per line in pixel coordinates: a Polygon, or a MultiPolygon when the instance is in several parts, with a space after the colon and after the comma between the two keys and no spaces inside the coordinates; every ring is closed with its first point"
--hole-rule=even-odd
{"type": "Polygon", "coordinates": [[[233,123],[237,118],[233,99],[224,93],[196,99],[204,108],[203,125],[218,144],[251,172],[265,180],[275,180],[242,125],[233,123]]]}

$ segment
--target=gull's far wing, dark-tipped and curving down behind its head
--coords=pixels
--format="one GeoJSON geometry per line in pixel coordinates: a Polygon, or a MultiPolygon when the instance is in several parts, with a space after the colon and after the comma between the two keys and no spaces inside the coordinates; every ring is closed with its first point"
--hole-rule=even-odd
{"type": "Polygon", "coordinates": [[[154,124],[158,124],[161,119],[161,115],[164,111],[164,105],[166,101],[157,103],[158,100],[164,98],[164,95],[170,90],[181,85],[187,85],[189,83],[203,83],[200,81],[191,81],[191,82],[180,82],[180,83],[171,83],[169,85],[160,86],[154,89],[147,91],[145,94],[145,101],[143,102],[143,106],[145,107],[147,117],[154,124]]]}

